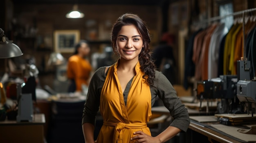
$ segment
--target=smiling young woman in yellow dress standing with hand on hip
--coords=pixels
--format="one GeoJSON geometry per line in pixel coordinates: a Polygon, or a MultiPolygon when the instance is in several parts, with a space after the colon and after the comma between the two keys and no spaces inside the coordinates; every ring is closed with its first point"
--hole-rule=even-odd
{"type": "Polygon", "coordinates": [[[112,48],[119,59],[93,75],[83,110],[86,143],[164,143],[186,132],[187,109],[171,83],[150,61],[147,26],[135,14],[121,15],[112,27],[112,48]],[[174,118],[170,126],[153,137],[147,127],[156,97],[163,100],[174,118]],[[103,126],[94,141],[95,116],[100,110],[103,126]]]}

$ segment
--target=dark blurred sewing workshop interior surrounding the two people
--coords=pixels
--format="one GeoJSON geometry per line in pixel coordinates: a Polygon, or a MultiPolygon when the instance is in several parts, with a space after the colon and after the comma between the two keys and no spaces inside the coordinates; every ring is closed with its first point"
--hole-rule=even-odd
{"type": "MultiPolygon", "coordinates": [[[[256,1],[0,3],[0,143],[85,143],[81,123],[88,85],[68,91],[67,62],[75,44],[86,40],[90,76],[114,64],[119,57],[110,33],[124,13],[146,22],[157,58],[152,60],[189,112],[187,131],[165,143],[256,143],[256,1]],[[81,18],[68,18],[74,9],[81,18]]],[[[157,136],[173,117],[160,99],[151,112],[147,125],[157,136]]],[[[95,140],[102,124],[98,112],[95,140]]]]}

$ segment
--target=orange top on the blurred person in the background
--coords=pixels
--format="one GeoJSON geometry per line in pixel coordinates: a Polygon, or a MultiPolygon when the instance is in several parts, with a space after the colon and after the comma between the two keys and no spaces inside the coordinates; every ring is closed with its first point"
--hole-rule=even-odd
{"type": "Polygon", "coordinates": [[[87,59],[79,55],[72,55],[67,63],[67,77],[76,82],[76,91],[82,90],[82,84],[88,85],[92,66],[87,59]]]}

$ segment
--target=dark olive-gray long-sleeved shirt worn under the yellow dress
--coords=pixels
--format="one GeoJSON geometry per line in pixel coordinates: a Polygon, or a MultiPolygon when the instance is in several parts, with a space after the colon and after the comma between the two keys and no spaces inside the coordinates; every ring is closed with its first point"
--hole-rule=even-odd
{"type": "MultiPolygon", "coordinates": [[[[85,106],[83,109],[83,123],[92,123],[95,125],[96,114],[99,111],[101,89],[106,79],[106,67],[101,67],[95,71],[90,81],[89,90],[85,106]]],[[[162,99],[164,106],[170,111],[173,121],[170,126],[179,128],[183,132],[189,127],[189,113],[184,104],[177,97],[176,91],[170,81],[159,71],[155,71],[154,86],[150,86],[151,105],[153,106],[157,96],[162,99]]],[[[132,80],[132,79],[131,79],[132,80]]],[[[127,95],[130,89],[130,82],[124,91],[124,100],[127,101],[127,95]]]]}

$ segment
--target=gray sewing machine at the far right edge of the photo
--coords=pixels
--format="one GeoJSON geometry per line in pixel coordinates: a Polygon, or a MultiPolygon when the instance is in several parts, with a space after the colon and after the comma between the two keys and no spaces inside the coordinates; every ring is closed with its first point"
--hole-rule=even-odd
{"type": "Polygon", "coordinates": [[[249,75],[250,61],[241,60],[238,64],[237,97],[240,102],[244,103],[244,110],[247,114],[255,113],[256,108],[256,77],[252,80],[249,75]]]}

